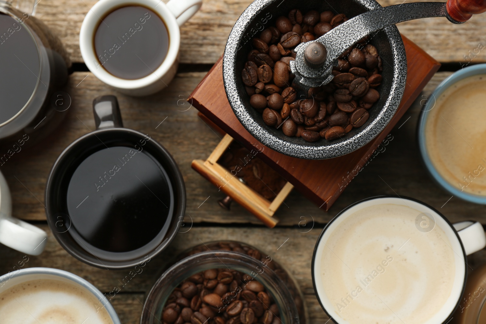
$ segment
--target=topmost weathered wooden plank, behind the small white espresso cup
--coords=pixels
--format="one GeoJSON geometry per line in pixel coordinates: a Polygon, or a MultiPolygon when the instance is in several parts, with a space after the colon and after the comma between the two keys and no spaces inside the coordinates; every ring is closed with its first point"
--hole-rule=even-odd
{"type": "MultiPolygon", "coordinates": [[[[168,0],[163,0],[168,2],[168,0]]],[[[201,10],[181,28],[181,62],[214,64],[225,49],[233,24],[251,0],[205,0],[201,10]]],[[[383,6],[402,0],[379,0],[383,6]]],[[[413,2],[406,0],[406,2],[413,2]]],[[[79,30],[96,0],[42,0],[37,17],[59,35],[73,62],[83,62],[79,51],[79,30]]],[[[484,31],[486,15],[475,15],[469,22],[453,25],[446,18],[426,18],[402,22],[399,31],[439,62],[486,62],[484,31]]],[[[457,65],[459,68],[460,65],[457,65]]]]}

